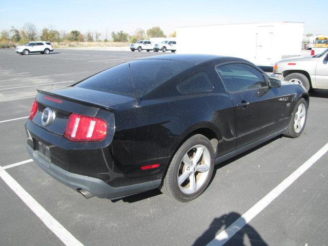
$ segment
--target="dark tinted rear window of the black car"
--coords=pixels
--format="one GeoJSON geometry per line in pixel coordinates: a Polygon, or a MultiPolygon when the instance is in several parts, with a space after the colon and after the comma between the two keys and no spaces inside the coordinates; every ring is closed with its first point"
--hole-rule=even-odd
{"type": "Polygon", "coordinates": [[[129,63],[124,63],[95,74],[75,86],[134,97],[131,83],[132,74],[137,98],[141,98],[192,66],[189,63],[176,60],[133,60],[130,61],[131,73],[129,63]]]}

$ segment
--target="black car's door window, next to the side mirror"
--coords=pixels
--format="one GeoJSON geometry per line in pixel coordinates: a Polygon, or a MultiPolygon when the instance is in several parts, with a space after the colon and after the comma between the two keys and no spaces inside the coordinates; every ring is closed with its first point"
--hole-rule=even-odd
{"type": "Polygon", "coordinates": [[[234,63],[218,66],[224,87],[229,92],[244,91],[268,86],[263,74],[247,64],[234,63]]]}

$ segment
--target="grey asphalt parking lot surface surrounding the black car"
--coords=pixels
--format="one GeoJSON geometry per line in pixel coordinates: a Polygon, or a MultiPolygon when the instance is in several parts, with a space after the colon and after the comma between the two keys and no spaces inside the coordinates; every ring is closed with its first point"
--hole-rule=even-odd
{"type": "Polygon", "coordinates": [[[328,154],[310,159],[328,143],[328,91],[311,92],[300,137],[277,137],[221,163],[209,188],[188,203],[157,190],[115,201],[85,199],[29,161],[24,124],[36,89],[68,86],[160,54],[0,50],[0,245],[221,245],[224,240],[213,239],[223,231],[231,238],[225,245],[328,245],[328,154]],[[285,185],[309,159],[313,165],[285,185]],[[281,183],[285,189],[272,193],[281,183]],[[265,206],[253,209],[259,201],[265,206]],[[226,229],[243,218],[251,220],[229,235],[226,229]]]}

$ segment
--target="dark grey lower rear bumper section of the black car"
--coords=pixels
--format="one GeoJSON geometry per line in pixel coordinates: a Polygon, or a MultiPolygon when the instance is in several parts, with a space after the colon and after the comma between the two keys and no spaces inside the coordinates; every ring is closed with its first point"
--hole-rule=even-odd
{"type": "Polygon", "coordinates": [[[101,179],[71,173],[57,167],[50,161],[47,161],[42,154],[39,154],[38,151],[33,150],[29,145],[26,145],[26,149],[37,165],[50,176],[76,191],[79,189],[84,189],[99,198],[114,199],[129,196],[143,191],[156,189],[161,183],[161,179],[159,179],[144,183],[137,183],[130,186],[112,187],[101,179]]]}

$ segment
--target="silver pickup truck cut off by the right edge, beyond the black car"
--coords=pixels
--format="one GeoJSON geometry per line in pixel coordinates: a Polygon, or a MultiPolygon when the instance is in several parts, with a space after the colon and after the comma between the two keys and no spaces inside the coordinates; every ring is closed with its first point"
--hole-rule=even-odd
{"type": "Polygon", "coordinates": [[[306,91],[328,89],[328,49],[313,56],[280,60],[271,76],[300,84],[306,91]]]}

